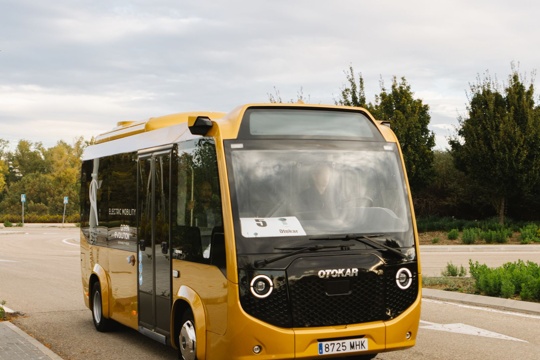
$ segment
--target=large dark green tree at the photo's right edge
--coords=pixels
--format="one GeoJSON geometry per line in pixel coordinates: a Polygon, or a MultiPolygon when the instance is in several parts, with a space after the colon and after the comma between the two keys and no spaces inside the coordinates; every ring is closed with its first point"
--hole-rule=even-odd
{"type": "Polygon", "coordinates": [[[450,140],[456,167],[491,199],[504,223],[509,201],[530,196],[540,179],[540,116],[534,87],[512,69],[504,92],[488,73],[470,86],[467,115],[450,140]]]}

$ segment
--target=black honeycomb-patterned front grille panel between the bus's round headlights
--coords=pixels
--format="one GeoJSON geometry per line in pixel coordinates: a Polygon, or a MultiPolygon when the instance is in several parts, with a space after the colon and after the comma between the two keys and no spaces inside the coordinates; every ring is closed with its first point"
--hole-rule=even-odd
{"type": "Polygon", "coordinates": [[[358,276],[345,279],[321,279],[314,274],[286,281],[285,274],[273,276],[274,291],[264,299],[254,297],[249,289],[251,279],[259,272],[240,274],[242,308],[262,321],[287,328],[389,320],[410,307],[418,295],[416,263],[383,266],[378,272],[360,271],[358,276]],[[402,267],[413,274],[406,290],[396,284],[396,273],[402,267]],[[341,283],[334,286],[332,282],[341,283]],[[329,289],[341,291],[329,293],[329,289]]]}

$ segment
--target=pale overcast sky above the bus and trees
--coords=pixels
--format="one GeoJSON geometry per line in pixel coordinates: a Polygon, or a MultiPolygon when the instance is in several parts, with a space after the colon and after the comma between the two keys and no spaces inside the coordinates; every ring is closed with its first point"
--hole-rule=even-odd
{"type": "Polygon", "coordinates": [[[532,0],[0,0],[0,139],[71,144],[275,89],[333,104],[352,66],[370,102],[405,77],[443,149],[479,74],[533,78],[539,16],[532,0]]]}

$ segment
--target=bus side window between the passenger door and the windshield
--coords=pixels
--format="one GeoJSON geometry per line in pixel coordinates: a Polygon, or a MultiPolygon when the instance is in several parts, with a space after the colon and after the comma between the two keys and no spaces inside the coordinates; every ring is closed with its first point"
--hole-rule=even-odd
{"type": "Polygon", "coordinates": [[[221,193],[213,139],[179,145],[173,257],[211,263],[212,235],[223,233],[221,193]]]}

